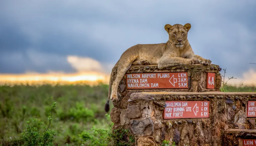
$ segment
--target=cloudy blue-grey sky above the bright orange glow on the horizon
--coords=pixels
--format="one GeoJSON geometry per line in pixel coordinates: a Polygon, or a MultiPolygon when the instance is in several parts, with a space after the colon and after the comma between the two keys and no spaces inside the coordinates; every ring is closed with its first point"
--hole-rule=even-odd
{"type": "Polygon", "coordinates": [[[127,48],[165,43],[165,24],[190,23],[195,54],[229,76],[256,75],[255,8],[255,0],[0,1],[0,73],[110,73],[127,48]]]}

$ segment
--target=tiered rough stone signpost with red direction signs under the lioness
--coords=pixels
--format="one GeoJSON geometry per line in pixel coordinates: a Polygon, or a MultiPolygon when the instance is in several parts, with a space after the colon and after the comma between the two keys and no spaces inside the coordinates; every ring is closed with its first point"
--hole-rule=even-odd
{"type": "Polygon", "coordinates": [[[164,140],[177,146],[255,145],[256,92],[220,92],[220,70],[214,64],[131,66],[113,102],[113,131],[129,129],[122,141],[132,136],[131,145],[138,146],[164,140]]]}

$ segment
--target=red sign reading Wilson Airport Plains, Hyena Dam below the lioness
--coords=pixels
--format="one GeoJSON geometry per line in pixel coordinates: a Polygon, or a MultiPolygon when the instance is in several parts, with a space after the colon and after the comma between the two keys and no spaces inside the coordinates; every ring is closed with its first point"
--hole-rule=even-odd
{"type": "Polygon", "coordinates": [[[188,88],[187,72],[126,74],[127,89],[188,88]]]}

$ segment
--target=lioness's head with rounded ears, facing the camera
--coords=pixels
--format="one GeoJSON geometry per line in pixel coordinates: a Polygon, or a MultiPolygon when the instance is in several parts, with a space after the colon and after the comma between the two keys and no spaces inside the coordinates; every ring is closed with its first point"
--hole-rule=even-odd
{"type": "Polygon", "coordinates": [[[176,45],[176,47],[183,47],[183,44],[187,41],[188,30],[191,28],[189,23],[184,26],[181,24],[166,24],[164,29],[169,34],[169,41],[176,45]]]}

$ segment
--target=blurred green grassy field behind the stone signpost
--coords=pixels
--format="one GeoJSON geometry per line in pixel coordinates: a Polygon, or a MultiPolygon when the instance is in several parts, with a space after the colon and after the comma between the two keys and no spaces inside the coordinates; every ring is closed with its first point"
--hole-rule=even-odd
{"type": "MultiPolygon", "coordinates": [[[[226,89],[256,92],[255,87],[226,89]]],[[[23,145],[21,133],[26,129],[26,121],[37,118],[47,125],[51,113],[50,128],[57,132],[54,145],[111,145],[108,134],[112,122],[104,111],[107,95],[108,85],[102,84],[0,86],[0,145],[23,145]],[[56,107],[51,112],[54,102],[56,107]]],[[[37,125],[39,132],[45,131],[37,125]]]]}

